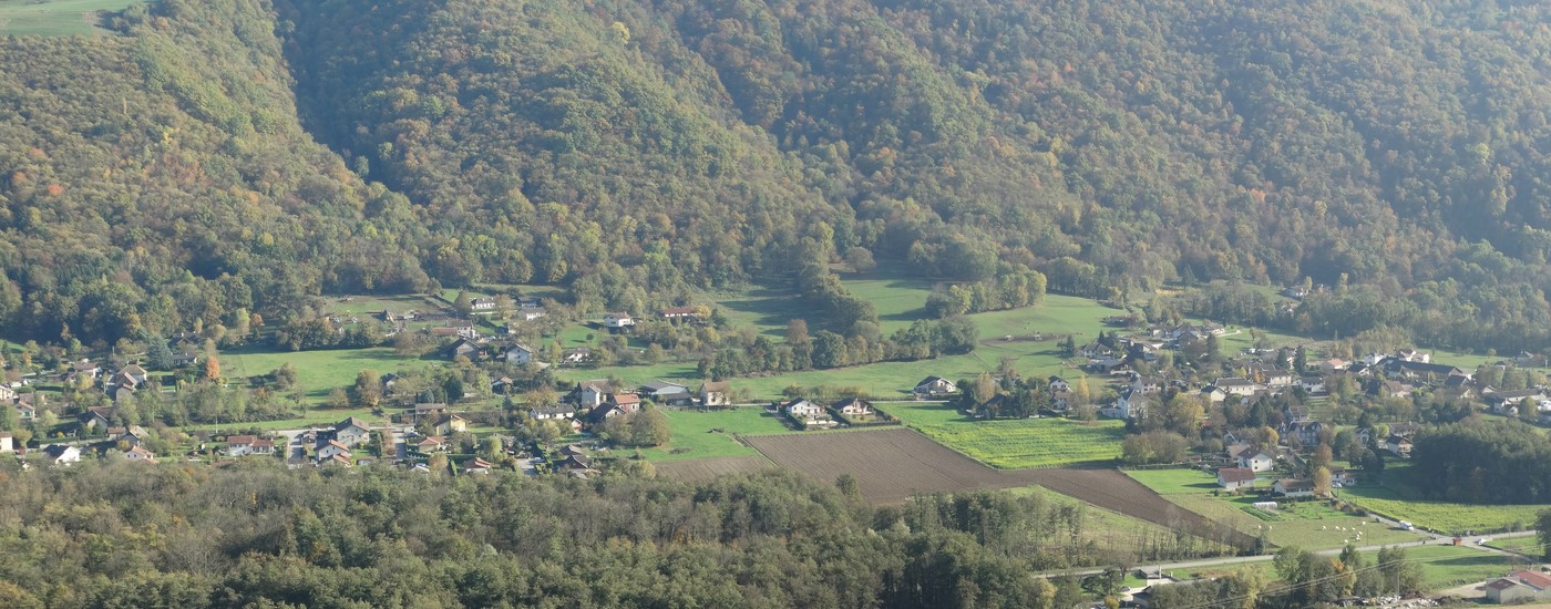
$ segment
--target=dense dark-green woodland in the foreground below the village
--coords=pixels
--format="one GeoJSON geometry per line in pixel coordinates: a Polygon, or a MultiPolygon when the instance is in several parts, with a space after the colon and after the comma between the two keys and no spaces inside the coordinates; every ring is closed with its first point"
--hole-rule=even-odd
{"type": "Polygon", "coordinates": [[[873,508],[776,470],[687,485],[102,460],[0,479],[17,609],[1073,606],[1076,578],[1038,570],[1190,542],[1087,541],[1079,504],[1041,496],[873,508]]]}

